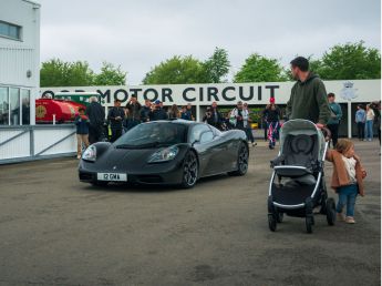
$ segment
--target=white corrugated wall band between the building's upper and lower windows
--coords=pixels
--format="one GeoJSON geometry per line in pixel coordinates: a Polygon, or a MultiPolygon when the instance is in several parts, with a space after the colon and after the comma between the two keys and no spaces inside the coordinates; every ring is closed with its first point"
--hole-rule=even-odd
{"type": "Polygon", "coordinates": [[[27,76],[27,71],[35,71],[33,49],[17,47],[0,47],[0,83],[34,86],[33,78],[27,76]]]}

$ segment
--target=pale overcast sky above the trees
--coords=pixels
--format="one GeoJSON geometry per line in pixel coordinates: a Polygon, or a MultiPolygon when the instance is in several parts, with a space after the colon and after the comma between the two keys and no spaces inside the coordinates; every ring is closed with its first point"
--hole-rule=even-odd
{"type": "Polygon", "coordinates": [[[334,44],[363,40],[381,49],[380,0],[35,0],[41,3],[41,61],[121,65],[127,84],[174,55],[208,59],[228,51],[230,75],[251,53],[321,58],[334,44]]]}

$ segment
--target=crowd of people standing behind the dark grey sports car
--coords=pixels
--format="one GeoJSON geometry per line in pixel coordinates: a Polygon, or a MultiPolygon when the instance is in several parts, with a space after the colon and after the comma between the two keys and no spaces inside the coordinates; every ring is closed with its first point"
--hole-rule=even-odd
{"type": "MultiPolygon", "coordinates": [[[[275,106],[272,101],[270,105],[275,106]]],[[[271,130],[273,121],[278,120],[278,116],[275,116],[275,112],[272,111],[273,108],[269,109],[269,112],[265,112],[265,114],[267,114],[265,116],[269,120],[269,130],[271,130]]],[[[125,106],[122,106],[121,101],[116,99],[114,101],[114,106],[109,110],[106,115],[97,98],[93,96],[90,99],[90,104],[86,110],[79,110],[79,114],[75,119],[75,125],[78,127],[78,157],[81,157],[82,145],[87,147],[90,144],[99,141],[114,142],[122,134],[140,123],[167,119],[195,121],[193,105],[188,103],[179,109],[176,104],[173,104],[166,111],[163,103],[158,100],[154,102],[145,100],[144,105],[142,105],[135,96],[132,96],[125,106]],[[107,136],[109,130],[111,131],[111,136],[107,136]]],[[[235,109],[226,115],[223,115],[218,110],[217,102],[213,102],[211,105],[207,108],[202,121],[220,131],[231,129],[242,130],[247,134],[248,142],[252,146],[257,145],[250,125],[252,120],[250,119],[250,111],[247,103],[239,101],[235,109]]],[[[275,132],[270,132],[269,137],[271,142],[273,142],[273,147],[275,132]]]]}

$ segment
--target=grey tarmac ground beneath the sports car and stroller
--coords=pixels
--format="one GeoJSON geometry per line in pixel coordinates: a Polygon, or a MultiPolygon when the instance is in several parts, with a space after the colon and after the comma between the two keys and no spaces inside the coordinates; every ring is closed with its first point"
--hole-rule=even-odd
{"type": "Polygon", "coordinates": [[[278,146],[264,141],[246,176],[192,190],[93,187],[75,159],[2,165],[0,285],[381,285],[380,149],[354,143],[368,171],[357,224],[316,215],[312,234],[295,217],[269,231],[278,146]]]}

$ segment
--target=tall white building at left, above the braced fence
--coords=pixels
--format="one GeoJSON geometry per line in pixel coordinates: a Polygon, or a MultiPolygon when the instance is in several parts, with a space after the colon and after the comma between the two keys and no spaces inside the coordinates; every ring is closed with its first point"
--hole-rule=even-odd
{"type": "Polygon", "coordinates": [[[40,4],[0,0],[0,126],[34,124],[40,86],[40,4]]]}

